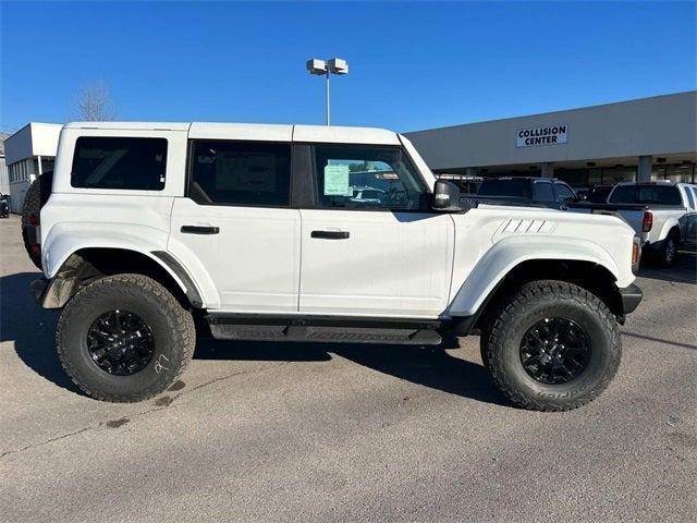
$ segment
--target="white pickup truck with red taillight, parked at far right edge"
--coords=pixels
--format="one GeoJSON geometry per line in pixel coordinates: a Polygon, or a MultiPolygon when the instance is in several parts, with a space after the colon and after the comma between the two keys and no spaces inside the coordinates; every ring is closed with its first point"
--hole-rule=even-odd
{"type": "Polygon", "coordinates": [[[669,267],[675,263],[677,248],[697,243],[697,187],[688,183],[622,182],[608,196],[607,208],[617,208],[641,236],[645,253],[669,267]]]}

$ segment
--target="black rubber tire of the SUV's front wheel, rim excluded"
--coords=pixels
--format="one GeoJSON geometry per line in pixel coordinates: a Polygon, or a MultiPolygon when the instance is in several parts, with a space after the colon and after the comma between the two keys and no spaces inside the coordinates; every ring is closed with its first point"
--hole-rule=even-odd
{"type": "Polygon", "coordinates": [[[615,317],[585,289],[555,280],[533,281],[505,300],[481,336],[484,364],[503,394],[517,406],[535,411],[570,411],[608,387],[622,356],[615,317]],[[548,385],[531,377],[521,361],[521,342],[546,317],[580,326],[590,341],[586,368],[576,378],[548,385]]]}

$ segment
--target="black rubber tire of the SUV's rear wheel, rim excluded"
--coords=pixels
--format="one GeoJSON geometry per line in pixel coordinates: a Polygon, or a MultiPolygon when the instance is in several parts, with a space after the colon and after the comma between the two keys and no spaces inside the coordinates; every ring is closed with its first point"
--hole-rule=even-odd
{"type": "Polygon", "coordinates": [[[63,309],[56,335],[63,368],[85,393],[103,401],[137,402],[166,390],[184,372],[196,345],[191,312],[157,281],[142,275],[101,278],[81,289],[63,309]],[[152,332],[152,358],[142,370],[114,376],[87,349],[93,323],[112,309],[138,315],[152,332]]]}

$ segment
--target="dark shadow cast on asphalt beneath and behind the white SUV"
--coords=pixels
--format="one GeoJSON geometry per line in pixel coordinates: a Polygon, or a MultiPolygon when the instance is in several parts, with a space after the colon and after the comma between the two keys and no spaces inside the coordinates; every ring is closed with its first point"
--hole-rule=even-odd
{"type": "MultiPolygon", "coordinates": [[[[29,283],[40,272],[21,272],[0,278],[0,341],[13,341],[20,358],[49,381],[82,393],[68,377],[56,352],[59,313],[40,308],[29,294],[29,283]]],[[[447,339],[440,346],[274,343],[199,339],[197,360],[280,362],[326,362],[331,354],[358,365],[417,385],[477,401],[510,406],[490,382],[485,368],[451,356],[445,349],[457,346],[447,339]]]]}

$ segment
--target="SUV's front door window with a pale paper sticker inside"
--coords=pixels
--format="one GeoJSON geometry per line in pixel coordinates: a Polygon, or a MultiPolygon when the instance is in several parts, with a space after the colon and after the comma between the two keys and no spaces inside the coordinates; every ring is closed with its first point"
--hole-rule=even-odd
{"type": "Polygon", "coordinates": [[[426,190],[400,147],[315,146],[319,206],[425,209],[426,190]]]}

